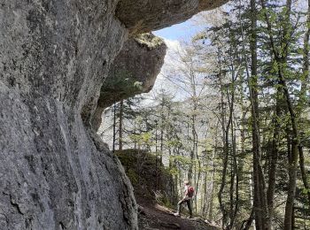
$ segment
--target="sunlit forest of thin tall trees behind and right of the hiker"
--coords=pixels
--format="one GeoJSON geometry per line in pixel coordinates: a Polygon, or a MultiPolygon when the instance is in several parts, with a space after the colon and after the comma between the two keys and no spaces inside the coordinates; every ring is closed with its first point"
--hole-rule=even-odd
{"type": "Polygon", "coordinates": [[[223,229],[310,229],[310,1],[233,0],[198,24],[161,87],[114,103],[98,134],[151,152],[174,196],[189,180],[195,215],[223,229]]]}

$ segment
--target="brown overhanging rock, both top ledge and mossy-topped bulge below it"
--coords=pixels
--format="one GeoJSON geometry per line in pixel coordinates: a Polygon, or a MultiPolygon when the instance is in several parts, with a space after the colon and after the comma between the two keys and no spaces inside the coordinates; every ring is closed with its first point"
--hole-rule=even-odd
{"type": "Polygon", "coordinates": [[[145,32],[172,26],[190,19],[198,12],[213,10],[227,2],[228,0],[120,0],[115,15],[128,29],[128,41],[113,61],[100,90],[92,126],[97,130],[102,111],[112,103],[149,92],[153,87],[164,63],[167,46],[159,37],[145,32]],[[139,43],[140,45],[137,45],[139,43]],[[128,88],[128,92],[125,93],[119,80],[120,74],[117,72],[122,72],[123,78],[129,81],[140,81],[142,87],[132,86],[131,90],[128,88]]]}

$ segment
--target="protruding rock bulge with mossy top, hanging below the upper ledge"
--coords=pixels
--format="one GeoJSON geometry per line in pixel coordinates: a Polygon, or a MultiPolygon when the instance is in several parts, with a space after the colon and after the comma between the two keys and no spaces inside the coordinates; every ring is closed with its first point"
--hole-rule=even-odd
{"type": "Polygon", "coordinates": [[[151,90],[164,64],[166,50],[164,41],[151,34],[125,42],[101,88],[92,120],[94,129],[99,128],[103,111],[112,103],[151,90]]]}

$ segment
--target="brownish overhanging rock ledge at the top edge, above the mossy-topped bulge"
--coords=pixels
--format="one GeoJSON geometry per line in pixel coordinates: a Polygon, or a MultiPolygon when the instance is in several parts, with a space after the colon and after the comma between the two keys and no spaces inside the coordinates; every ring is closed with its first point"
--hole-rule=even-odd
{"type": "Polygon", "coordinates": [[[116,16],[131,35],[169,27],[194,14],[213,10],[229,0],[120,0],[116,16]]]}

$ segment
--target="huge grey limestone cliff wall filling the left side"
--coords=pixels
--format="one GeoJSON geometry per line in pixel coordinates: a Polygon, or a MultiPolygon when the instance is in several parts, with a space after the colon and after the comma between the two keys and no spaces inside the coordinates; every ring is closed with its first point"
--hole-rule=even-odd
{"type": "Polygon", "coordinates": [[[0,1],[0,229],[137,228],[132,186],[90,121],[129,27],[167,25],[128,24],[127,11],[157,13],[142,2],[0,1]]]}

